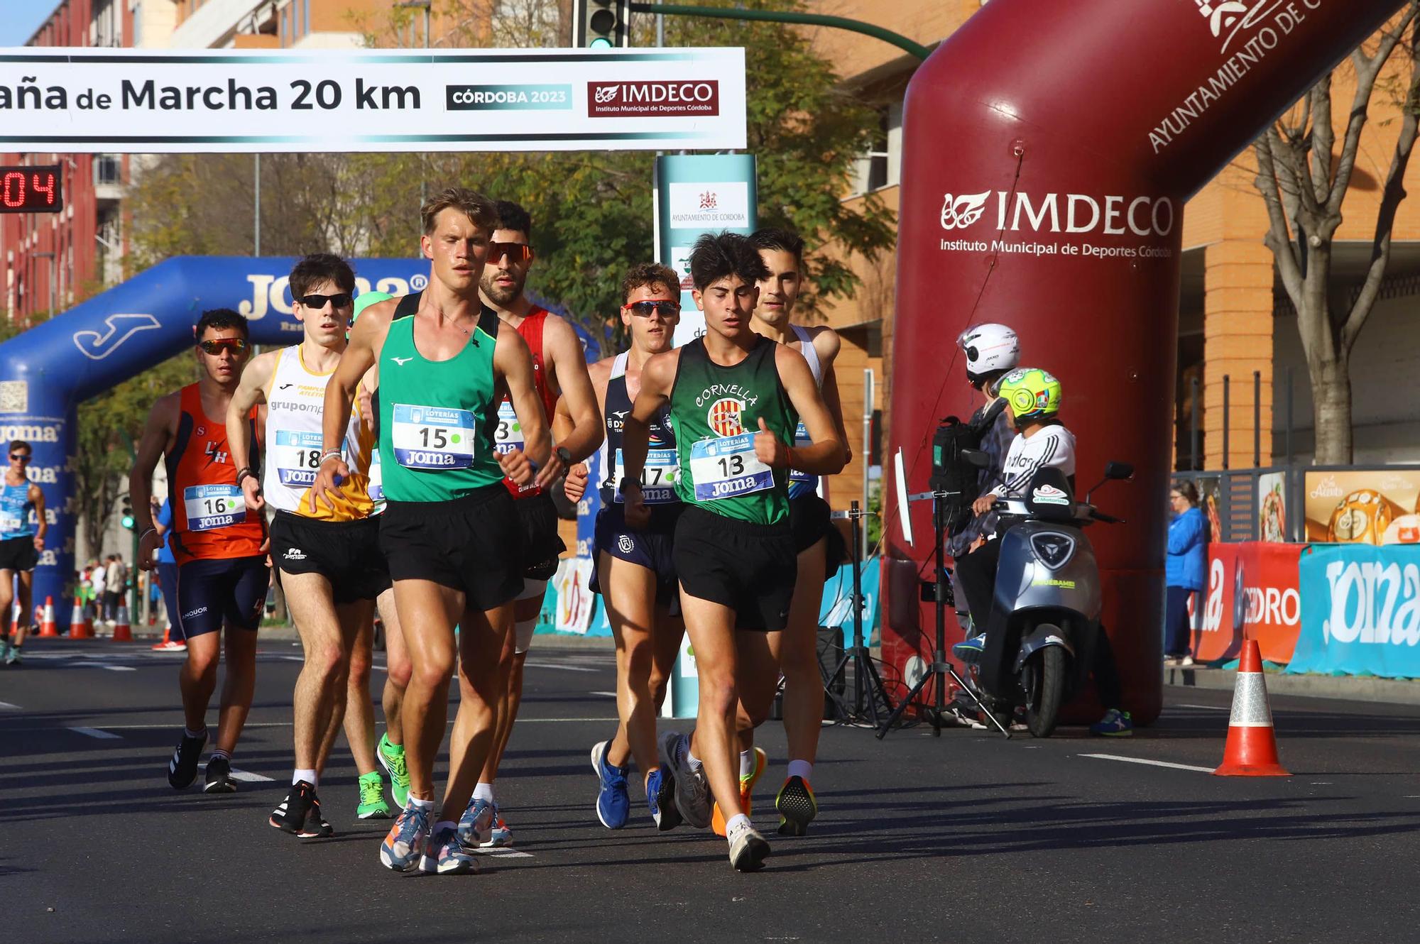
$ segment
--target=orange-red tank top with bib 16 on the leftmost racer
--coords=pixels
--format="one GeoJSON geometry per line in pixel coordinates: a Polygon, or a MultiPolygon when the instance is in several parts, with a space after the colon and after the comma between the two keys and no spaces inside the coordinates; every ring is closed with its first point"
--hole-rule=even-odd
{"type": "MultiPolygon", "coordinates": [[[[227,449],[227,424],[202,409],[196,383],[179,393],[178,441],[168,453],[168,494],[173,505],[172,549],[178,564],[248,558],[261,554],[266,517],[247,510],[227,449]]],[[[256,443],[257,407],[251,407],[256,443]]],[[[256,446],[251,461],[260,456],[256,446]]]]}

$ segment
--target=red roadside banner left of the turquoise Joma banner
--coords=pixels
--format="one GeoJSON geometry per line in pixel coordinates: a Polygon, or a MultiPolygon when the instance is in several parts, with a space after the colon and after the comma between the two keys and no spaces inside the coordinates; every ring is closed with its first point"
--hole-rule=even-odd
{"type": "Polygon", "coordinates": [[[1301,626],[1296,559],[1304,547],[1257,541],[1208,545],[1208,589],[1193,633],[1194,659],[1237,659],[1245,632],[1258,642],[1262,659],[1291,662],[1301,626]]]}

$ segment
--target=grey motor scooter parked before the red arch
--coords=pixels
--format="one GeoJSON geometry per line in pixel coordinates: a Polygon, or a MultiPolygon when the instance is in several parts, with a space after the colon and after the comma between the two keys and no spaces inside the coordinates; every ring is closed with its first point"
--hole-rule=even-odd
{"type": "MultiPolygon", "coordinates": [[[[1133,473],[1129,463],[1108,463],[1099,485],[1133,473]]],[[[1051,735],[1061,706],[1089,679],[1103,632],[1099,565],[1083,529],[1123,521],[1091,504],[1095,488],[1075,501],[1064,471],[1041,468],[1024,497],[995,503],[1001,547],[977,681],[1005,717],[1024,707],[1038,738],[1051,735]]]]}

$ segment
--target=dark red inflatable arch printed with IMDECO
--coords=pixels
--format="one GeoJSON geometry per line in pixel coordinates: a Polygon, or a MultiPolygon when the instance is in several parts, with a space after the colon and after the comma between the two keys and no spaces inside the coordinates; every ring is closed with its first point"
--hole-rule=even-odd
{"type": "MultiPolygon", "coordinates": [[[[1183,203],[1397,6],[991,3],[907,88],[889,454],[902,447],[909,491],[926,490],[937,419],[971,410],[953,341],[983,321],[1020,332],[1022,362],[1064,385],[1081,487],[1110,459],[1137,470],[1102,493],[1129,524],[1091,539],[1143,724],[1162,703],[1183,203]]],[[[912,515],[914,547],[889,521],[883,575],[906,639],[933,625],[917,595],[930,510],[912,515]]]]}

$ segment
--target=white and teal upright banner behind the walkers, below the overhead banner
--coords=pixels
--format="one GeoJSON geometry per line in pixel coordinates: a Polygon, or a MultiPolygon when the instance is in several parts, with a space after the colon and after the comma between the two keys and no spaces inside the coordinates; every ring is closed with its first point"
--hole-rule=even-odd
{"type": "Polygon", "coordinates": [[[753,233],[757,203],[754,155],[656,158],[656,258],[680,275],[677,346],[704,334],[706,324],[690,295],[690,247],[703,233],[753,233]]]}

